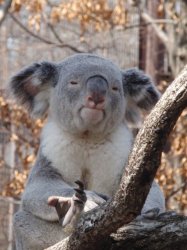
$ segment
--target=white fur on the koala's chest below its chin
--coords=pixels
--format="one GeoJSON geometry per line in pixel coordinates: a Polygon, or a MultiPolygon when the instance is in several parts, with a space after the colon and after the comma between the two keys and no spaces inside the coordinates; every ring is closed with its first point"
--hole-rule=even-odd
{"type": "Polygon", "coordinates": [[[53,122],[46,124],[42,135],[43,154],[67,183],[82,180],[89,190],[113,194],[132,145],[132,134],[125,125],[103,140],[74,138],[53,122]]]}

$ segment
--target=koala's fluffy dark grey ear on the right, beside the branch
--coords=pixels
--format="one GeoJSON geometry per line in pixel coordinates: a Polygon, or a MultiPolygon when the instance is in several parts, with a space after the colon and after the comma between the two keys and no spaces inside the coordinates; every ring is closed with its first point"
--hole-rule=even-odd
{"type": "Polygon", "coordinates": [[[127,98],[126,119],[131,123],[139,120],[139,111],[149,111],[160,97],[151,79],[136,68],[122,71],[124,95],[127,98]]]}

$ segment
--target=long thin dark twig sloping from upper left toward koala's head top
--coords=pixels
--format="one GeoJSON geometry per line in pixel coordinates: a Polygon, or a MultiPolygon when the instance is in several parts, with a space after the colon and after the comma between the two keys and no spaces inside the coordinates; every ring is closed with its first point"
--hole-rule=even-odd
{"type": "Polygon", "coordinates": [[[33,31],[29,30],[24,24],[22,24],[13,14],[9,13],[10,17],[15,21],[15,23],[17,23],[19,25],[19,27],[21,29],[23,29],[26,33],[28,33],[30,36],[40,40],[43,43],[46,44],[51,44],[51,45],[55,45],[56,47],[60,47],[60,48],[68,48],[76,53],[84,53],[85,51],[79,50],[78,48],[70,45],[70,44],[66,44],[64,42],[62,42],[62,40],[59,40],[60,43],[55,43],[47,38],[41,37],[38,34],[35,34],[33,31]]]}

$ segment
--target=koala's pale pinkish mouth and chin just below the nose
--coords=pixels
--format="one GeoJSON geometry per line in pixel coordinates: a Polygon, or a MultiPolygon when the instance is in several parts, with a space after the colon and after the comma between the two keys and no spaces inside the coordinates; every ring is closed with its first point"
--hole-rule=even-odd
{"type": "Polygon", "coordinates": [[[84,106],[80,110],[80,116],[87,124],[96,125],[104,119],[105,112],[103,109],[84,106]]]}

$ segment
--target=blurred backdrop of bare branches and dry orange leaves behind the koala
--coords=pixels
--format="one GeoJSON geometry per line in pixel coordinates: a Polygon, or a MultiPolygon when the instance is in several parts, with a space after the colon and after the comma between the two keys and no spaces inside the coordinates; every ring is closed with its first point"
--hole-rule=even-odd
{"type": "MultiPolygon", "coordinates": [[[[187,63],[185,0],[0,0],[0,249],[14,249],[19,208],[45,118],[32,120],[6,94],[11,75],[34,61],[96,53],[139,67],[161,92],[187,63]]],[[[157,181],[168,209],[187,215],[187,110],[163,153],[157,181]],[[170,146],[169,146],[170,144],[170,146]]]]}

